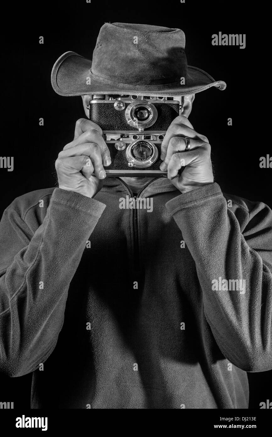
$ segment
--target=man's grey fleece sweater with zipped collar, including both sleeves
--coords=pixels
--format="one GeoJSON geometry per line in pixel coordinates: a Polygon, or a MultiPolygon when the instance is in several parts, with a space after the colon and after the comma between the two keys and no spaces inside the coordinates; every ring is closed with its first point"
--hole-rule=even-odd
{"type": "Polygon", "coordinates": [[[0,371],[33,372],[31,408],[248,408],[246,372],[272,368],[271,210],[216,183],[126,196],[108,178],[5,210],[0,371]]]}

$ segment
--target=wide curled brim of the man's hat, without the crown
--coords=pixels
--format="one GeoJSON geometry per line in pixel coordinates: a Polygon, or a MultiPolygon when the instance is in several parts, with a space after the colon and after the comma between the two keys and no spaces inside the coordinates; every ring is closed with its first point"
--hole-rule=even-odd
{"type": "Polygon", "coordinates": [[[187,67],[185,85],[175,82],[146,86],[129,85],[95,76],[91,73],[91,66],[90,59],[75,52],[65,52],[55,62],[52,69],[53,89],[57,94],[67,97],[85,94],[137,94],[143,96],[149,93],[154,96],[185,96],[200,93],[200,91],[210,87],[224,90],[227,86],[223,80],[216,81],[205,71],[193,66],[187,67]]]}

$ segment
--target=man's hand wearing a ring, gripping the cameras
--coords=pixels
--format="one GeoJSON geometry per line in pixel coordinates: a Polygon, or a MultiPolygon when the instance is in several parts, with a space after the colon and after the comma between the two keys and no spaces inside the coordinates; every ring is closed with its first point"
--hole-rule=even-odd
{"type": "Polygon", "coordinates": [[[168,170],[168,179],[182,193],[195,190],[213,182],[208,139],[193,130],[188,118],[179,115],[172,121],[162,142],[162,171],[168,170]],[[185,137],[190,139],[190,149],[185,152],[185,137]],[[180,175],[178,171],[186,166],[180,175]]]}

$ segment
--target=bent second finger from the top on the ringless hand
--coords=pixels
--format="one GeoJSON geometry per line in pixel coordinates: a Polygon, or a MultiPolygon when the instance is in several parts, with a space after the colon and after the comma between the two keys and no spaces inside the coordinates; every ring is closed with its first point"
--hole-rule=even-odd
{"type": "Polygon", "coordinates": [[[62,160],[67,157],[80,155],[86,155],[90,158],[96,177],[99,179],[104,179],[104,177],[106,177],[102,164],[100,147],[94,142],[78,144],[70,149],[62,150],[62,152],[59,153],[59,159],[62,160]]]}

